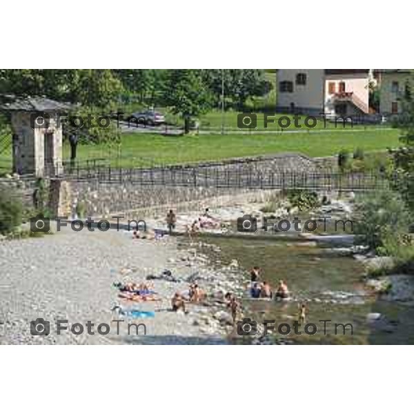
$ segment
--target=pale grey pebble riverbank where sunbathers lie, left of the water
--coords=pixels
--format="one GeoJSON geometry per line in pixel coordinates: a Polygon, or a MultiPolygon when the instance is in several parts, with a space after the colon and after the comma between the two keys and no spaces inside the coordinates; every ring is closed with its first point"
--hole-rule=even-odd
{"type": "MultiPolygon", "coordinates": [[[[0,344],[225,344],[233,326],[222,295],[241,293],[244,275],[237,263],[208,266],[195,248],[179,246],[179,238],[132,239],[132,234],[70,228],[41,238],[3,241],[0,244],[0,344]],[[115,282],[145,282],[146,275],[171,271],[179,282],[153,281],[160,302],[134,303],[118,297],[115,282]],[[205,304],[190,304],[188,313],[170,311],[170,298],[198,282],[208,293],[205,304]],[[137,319],[111,311],[154,311],[155,317],[137,319]],[[50,322],[50,335],[33,336],[30,322],[50,322]],[[58,319],[72,324],[95,324],[95,335],[56,332],[58,319]],[[146,335],[127,335],[114,320],[145,323],[146,335]],[[108,324],[98,335],[98,324],[108,324]]],[[[215,246],[204,246],[215,248],[215,246]]]]}

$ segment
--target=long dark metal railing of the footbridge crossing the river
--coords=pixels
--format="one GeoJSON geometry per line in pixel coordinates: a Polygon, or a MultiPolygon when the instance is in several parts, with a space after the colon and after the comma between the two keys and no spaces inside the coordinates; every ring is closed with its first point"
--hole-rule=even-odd
{"type": "MultiPolygon", "coordinates": [[[[62,177],[63,178],[63,177],[62,177]]],[[[101,183],[137,186],[186,186],[215,188],[262,188],[300,190],[368,191],[388,188],[388,179],[380,172],[342,173],[331,170],[256,170],[219,167],[175,166],[168,168],[77,168],[64,175],[77,181],[96,179],[101,183]]]]}

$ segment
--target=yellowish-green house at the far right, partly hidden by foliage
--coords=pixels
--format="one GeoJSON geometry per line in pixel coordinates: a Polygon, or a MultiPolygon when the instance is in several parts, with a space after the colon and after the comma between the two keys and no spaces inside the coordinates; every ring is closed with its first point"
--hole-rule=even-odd
{"type": "Polygon", "coordinates": [[[402,99],[410,93],[413,70],[378,69],[375,76],[380,84],[380,112],[384,115],[400,114],[402,99]]]}

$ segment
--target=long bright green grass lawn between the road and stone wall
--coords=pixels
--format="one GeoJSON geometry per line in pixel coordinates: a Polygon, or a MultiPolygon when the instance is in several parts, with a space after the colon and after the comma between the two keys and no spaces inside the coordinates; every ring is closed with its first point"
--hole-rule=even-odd
{"type": "MultiPolygon", "coordinates": [[[[114,158],[121,155],[121,165],[133,167],[155,164],[181,164],[197,161],[301,152],[309,157],[337,155],[339,150],[362,148],[364,152],[384,151],[399,145],[398,130],[362,132],[329,131],[295,134],[198,135],[163,137],[149,134],[124,134],[119,148],[106,145],[78,147],[78,159],[114,158]]],[[[64,146],[68,159],[69,146],[64,146]]]]}

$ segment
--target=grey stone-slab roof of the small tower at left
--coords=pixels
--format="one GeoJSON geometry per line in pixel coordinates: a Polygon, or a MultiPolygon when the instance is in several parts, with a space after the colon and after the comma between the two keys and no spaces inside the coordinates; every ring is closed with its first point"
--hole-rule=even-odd
{"type": "Polygon", "coordinates": [[[53,101],[45,97],[16,97],[1,95],[0,108],[22,112],[66,112],[71,108],[70,103],[53,101]]]}

